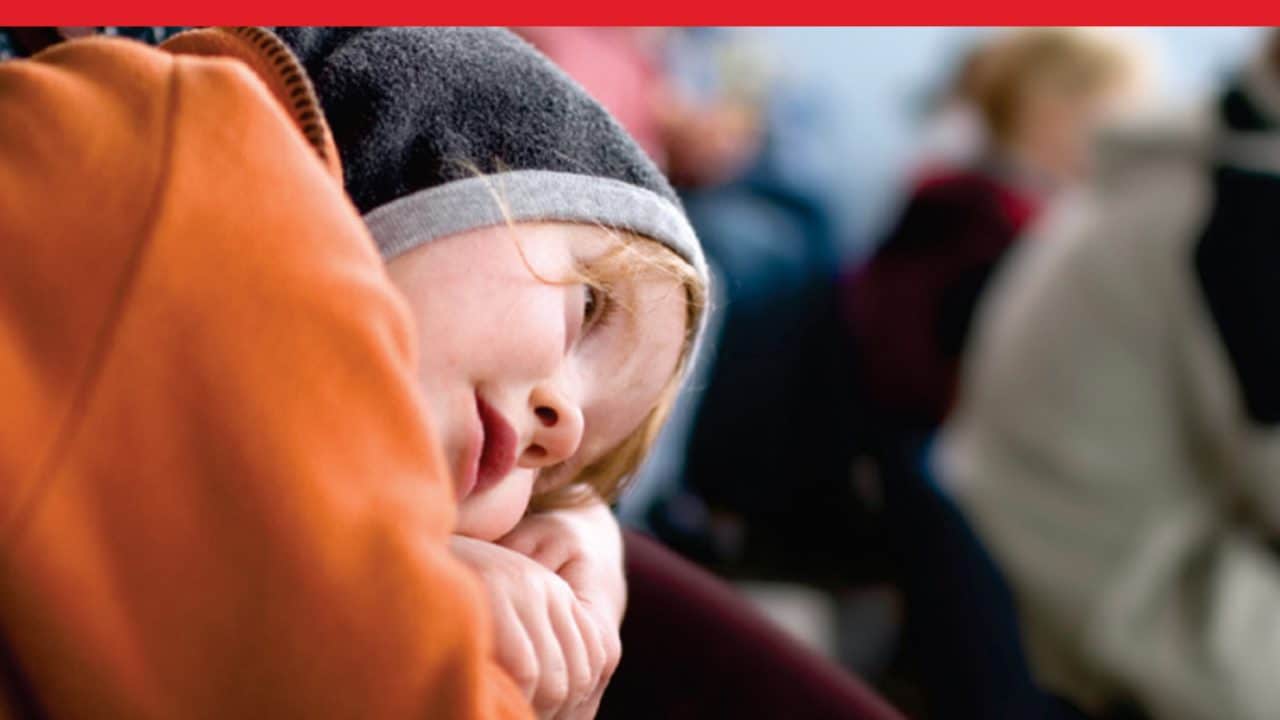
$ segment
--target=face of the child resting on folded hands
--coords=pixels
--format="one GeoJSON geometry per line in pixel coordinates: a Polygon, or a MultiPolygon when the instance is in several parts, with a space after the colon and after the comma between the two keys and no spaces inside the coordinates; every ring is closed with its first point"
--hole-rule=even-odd
{"type": "Polygon", "coordinates": [[[499,225],[388,265],[417,323],[458,533],[506,534],[539,470],[539,489],[568,480],[640,424],[675,373],[686,324],[677,278],[640,266],[608,293],[573,279],[618,242],[591,225],[499,225]]]}

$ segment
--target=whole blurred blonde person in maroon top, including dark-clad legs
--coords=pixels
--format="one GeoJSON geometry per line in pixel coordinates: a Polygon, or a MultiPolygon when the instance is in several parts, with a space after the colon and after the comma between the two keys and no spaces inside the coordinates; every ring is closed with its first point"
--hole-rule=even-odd
{"type": "Polygon", "coordinates": [[[1079,717],[1033,678],[998,570],[922,459],[951,407],[987,283],[1041,211],[1087,177],[1096,131],[1144,94],[1146,61],[1133,38],[1097,29],[977,44],[936,120],[963,129],[968,119],[952,133],[968,145],[934,150],[937,136],[924,135],[899,218],[845,278],[861,441],[884,509],[876,539],[902,598],[893,673],[931,717],[1079,717]]]}

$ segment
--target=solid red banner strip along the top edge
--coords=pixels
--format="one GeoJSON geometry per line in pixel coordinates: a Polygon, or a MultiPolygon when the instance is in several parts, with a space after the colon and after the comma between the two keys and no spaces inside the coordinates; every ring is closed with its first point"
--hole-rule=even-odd
{"type": "Polygon", "coordinates": [[[621,24],[621,26],[1023,26],[1280,24],[1280,1],[1162,0],[63,0],[0,3],[3,24],[621,24]]]}

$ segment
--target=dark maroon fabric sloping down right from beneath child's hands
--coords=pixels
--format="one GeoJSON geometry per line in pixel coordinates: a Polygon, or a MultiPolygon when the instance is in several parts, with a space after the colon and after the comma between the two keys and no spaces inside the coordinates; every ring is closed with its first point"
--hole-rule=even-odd
{"type": "Polygon", "coordinates": [[[626,553],[622,665],[602,720],[902,719],[714,575],[635,532],[626,553]]]}

